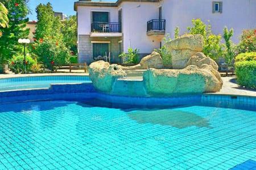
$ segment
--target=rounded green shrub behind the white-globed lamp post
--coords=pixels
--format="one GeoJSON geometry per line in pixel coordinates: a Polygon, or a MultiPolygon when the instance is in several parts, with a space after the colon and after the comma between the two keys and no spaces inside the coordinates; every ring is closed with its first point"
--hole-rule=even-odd
{"type": "MultiPolygon", "coordinates": [[[[36,69],[36,61],[30,57],[30,56],[26,56],[26,71],[28,72],[34,72],[36,69]]],[[[16,57],[13,57],[10,59],[9,61],[9,67],[10,70],[13,71],[15,74],[18,73],[25,73],[24,70],[24,56],[19,55],[16,57]]]]}

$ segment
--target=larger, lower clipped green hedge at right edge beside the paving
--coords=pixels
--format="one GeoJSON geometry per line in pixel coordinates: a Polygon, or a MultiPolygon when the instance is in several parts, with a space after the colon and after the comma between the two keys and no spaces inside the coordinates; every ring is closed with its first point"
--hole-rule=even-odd
{"type": "Polygon", "coordinates": [[[240,86],[256,88],[256,61],[236,62],[237,82],[240,86]]]}

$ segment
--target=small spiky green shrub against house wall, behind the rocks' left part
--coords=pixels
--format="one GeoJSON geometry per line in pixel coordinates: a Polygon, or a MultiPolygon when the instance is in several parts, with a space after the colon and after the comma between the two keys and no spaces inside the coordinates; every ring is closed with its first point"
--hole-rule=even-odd
{"type": "Polygon", "coordinates": [[[122,53],[119,55],[122,57],[125,62],[124,63],[139,63],[139,50],[135,48],[128,48],[128,53],[122,53]]]}

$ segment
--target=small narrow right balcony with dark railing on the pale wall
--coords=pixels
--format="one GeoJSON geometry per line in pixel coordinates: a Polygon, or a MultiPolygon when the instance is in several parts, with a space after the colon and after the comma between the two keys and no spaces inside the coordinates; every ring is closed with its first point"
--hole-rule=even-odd
{"type": "Polygon", "coordinates": [[[147,22],[147,35],[164,35],[166,33],[165,19],[152,19],[147,22]]]}

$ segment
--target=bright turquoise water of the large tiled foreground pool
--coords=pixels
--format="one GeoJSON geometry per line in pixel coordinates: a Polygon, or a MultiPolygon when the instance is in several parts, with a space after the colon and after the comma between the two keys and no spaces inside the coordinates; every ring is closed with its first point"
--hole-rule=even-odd
{"type": "Polygon", "coordinates": [[[240,109],[0,105],[0,169],[255,169],[255,137],[256,113],[240,109]]]}

